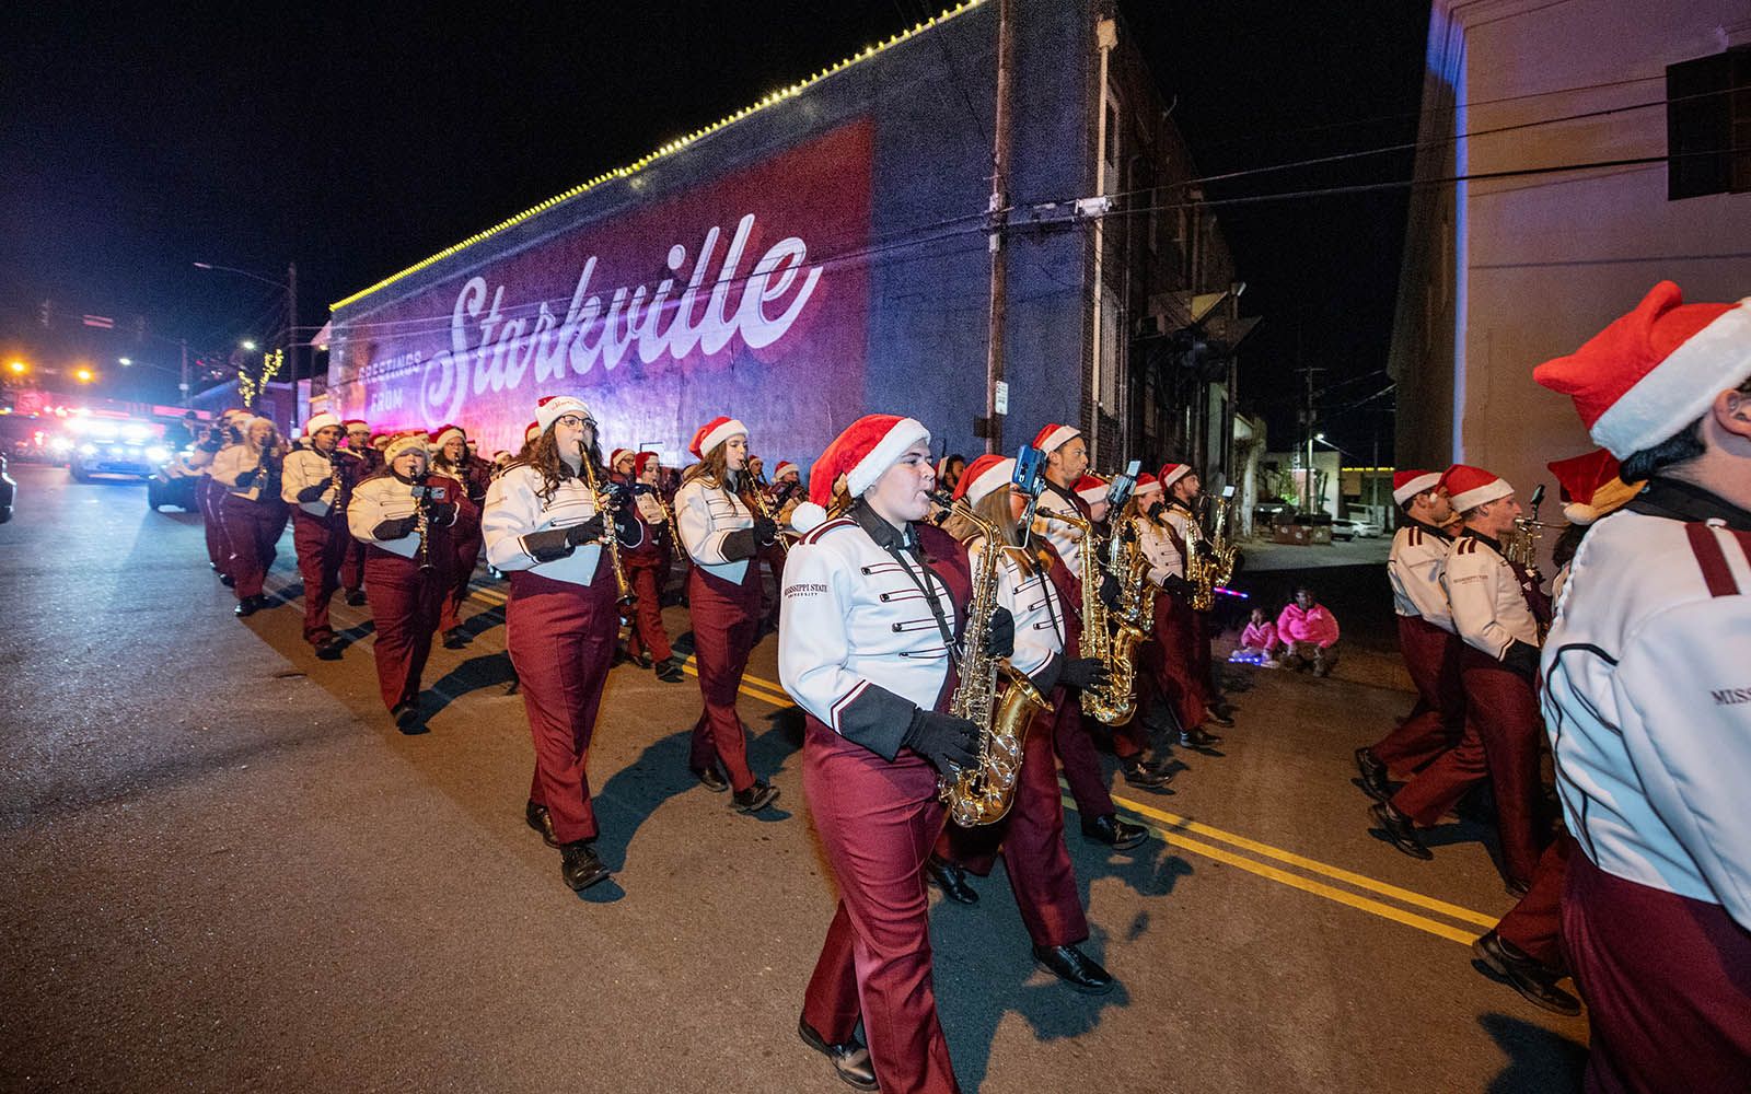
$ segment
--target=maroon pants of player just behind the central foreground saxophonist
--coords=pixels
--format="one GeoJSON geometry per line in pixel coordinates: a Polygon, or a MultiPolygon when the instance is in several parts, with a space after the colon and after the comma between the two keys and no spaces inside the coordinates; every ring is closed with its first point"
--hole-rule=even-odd
{"type": "MultiPolygon", "coordinates": [[[[1054,707],[1075,704],[1063,688],[1054,707]]],[[[1089,936],[1089,921],[1077,896],[1077,873],[1065,847],[1065,805],[1052,763],[1051,716],[1035,714],[1023,742],[1021,777],[1009,814],[996,824],[961,828],[953,821],[937,840],[937,854],[979,877],[988,877],[1002,847],[1016,907],[1035,945],[1072,945],[1089,936]]]]}

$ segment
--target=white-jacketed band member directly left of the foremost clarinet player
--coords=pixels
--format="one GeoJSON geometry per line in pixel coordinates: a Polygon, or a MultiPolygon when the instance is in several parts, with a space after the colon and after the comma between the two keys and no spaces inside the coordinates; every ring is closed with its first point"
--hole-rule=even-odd
{"type": "Polygon", "coordinates": [[[327,606],[340,588],[340,565],[355,543],[347,532],[347,501],[359,481],[359,457],[340,448],[340,418],[320,413],[305,422],[308,445],[285,457],[280,497],[292,509],[298,576],[305,583],[305,641],[317,656],[340,660],[341,642],[327,606]]]}

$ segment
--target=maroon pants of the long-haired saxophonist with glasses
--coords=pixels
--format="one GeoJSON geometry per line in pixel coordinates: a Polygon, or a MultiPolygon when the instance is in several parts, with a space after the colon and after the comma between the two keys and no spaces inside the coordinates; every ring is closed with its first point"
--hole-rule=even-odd
{"type": "Polygon", "coordinates": [[[590,737],[620,639],[608,551],[588,585],[511,571],[504,632],[536,749],[529,800],[546,807],[560,844],[594,840],[590,737]]]}

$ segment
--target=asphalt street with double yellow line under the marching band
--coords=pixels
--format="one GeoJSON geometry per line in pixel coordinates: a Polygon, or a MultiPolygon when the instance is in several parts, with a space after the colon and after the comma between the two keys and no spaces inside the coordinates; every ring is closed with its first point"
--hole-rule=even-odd
{"type": "MultiPolygon", "coordinates": [[[[692,677],[615,669],[592,753],[615,880],[573,894],[524,824],[503,585],[434,649],[431,732],[350,646],[299,639],[287,534],[247,621],[198,516],[14,467],[0,525],[0,1089],[839,1090],[795,1033],[833,907],[776,641],[742,697],[783,789],[744,817],[686,772],[692,677]],[[278,600],[285,600],[284,604],[278,600]]],[[[1382,585],[1380,595],[1385,597],[1382,585]]],[[[672,634],[686,613],[667,613],[672,634]]],[[[1222,754],[1115,793],[1154,835],[1070,852],[1119,991],[1035,970],[1002,866],[933,898],[937,998],[974,1090],[1567,1090],[1585,1019],[1471,966],[1511,903],[1485,830],[1418,863],[1368,833],[1350,751],[1410,707],[1368,674],[1236,681],[1222,754]]],[[[1110,767],[1108,758],[1108,767],[1110,767]]],[[[1066,805],[1068,809],[1068,805],[1066,805]]]]}

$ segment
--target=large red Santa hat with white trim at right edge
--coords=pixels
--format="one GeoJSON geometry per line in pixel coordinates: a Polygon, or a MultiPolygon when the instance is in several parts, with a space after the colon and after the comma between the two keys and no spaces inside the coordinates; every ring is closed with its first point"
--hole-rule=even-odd
{"type": "Polygon", "coordinates": [[[1655,285],[1579,350],[1532,369],[1541,385],[1574,397],[1593,443],[1620,460],[1669,439],[1746,376],[1751,298],[1686,305],[1672,282],[1655,285]]]}

